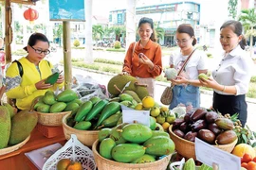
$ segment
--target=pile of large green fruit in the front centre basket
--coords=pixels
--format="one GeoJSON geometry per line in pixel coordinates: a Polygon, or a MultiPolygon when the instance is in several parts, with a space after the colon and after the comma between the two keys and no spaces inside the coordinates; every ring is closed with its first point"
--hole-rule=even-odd
{"type": "Polygon", "coordinates": [[[120,124],[99,132],[100,155],[109,160],[126,163],[157,161],[174,152],[169,134],[155,131],[142,124],[120,124]]]}

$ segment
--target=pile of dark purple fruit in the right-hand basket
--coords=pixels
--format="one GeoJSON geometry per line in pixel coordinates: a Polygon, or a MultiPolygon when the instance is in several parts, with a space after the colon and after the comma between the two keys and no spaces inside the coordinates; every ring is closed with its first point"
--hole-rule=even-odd
{"type": "Polygon", "coordinates": [[[186,113],[174,121],[173,131],[177,136],[194,142],[195,137],[209,144],[230,144],[237,139],[233,122],[213,110],[203,108],[186,113]]]}

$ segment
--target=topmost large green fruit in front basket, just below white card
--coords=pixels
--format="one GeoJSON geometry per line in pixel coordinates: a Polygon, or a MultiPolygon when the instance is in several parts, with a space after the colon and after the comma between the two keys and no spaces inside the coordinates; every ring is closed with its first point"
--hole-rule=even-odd
{"type": "Polygon", "coordinates": [[[152,130],[143,124],[128,124],[122,127],[121,136],[132,143],[144,143],[152,137],[152,130]]]}

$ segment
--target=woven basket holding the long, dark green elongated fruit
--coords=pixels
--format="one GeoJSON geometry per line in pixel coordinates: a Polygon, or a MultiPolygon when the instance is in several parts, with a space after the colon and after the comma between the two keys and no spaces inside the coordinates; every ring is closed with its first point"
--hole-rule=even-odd
{"type": "Polygon", "coordinates": [[[64,127],[64,137],[66,140],[69,140],[71,134],[75,134],[78,137],[78,140],[86,145],[92,146],[92,144],[98,139],[99,130],[79,130],[73,127],[66,125],[66,118],[69,114],[64,115],[63,118],[63,127],[64,127]]]}

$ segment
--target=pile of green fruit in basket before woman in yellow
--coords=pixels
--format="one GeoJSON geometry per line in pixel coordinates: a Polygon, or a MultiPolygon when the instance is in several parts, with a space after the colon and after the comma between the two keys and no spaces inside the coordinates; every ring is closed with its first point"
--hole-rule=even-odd
{"type": "Polygon", "coordinates": [[[78,99],[76,92],[67,89],[57,95],[52,91],[47,91],[45,95],[36,97],[33,103],[36,103],[34,110],[38,112],[54,113],[76,110],[82,101],[78,99]]]}

